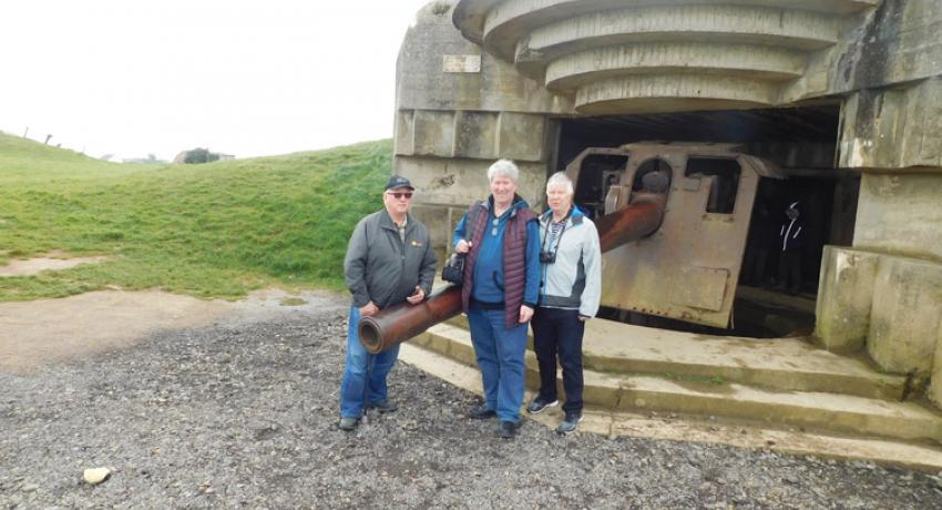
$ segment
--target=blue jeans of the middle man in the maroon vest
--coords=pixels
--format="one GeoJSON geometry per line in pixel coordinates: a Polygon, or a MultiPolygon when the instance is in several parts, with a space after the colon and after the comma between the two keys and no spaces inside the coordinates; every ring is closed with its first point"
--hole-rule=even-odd
{"type": "Polygon", "coordinates": [[[501,421],[520,421],[526,324],[508,329],[503,309],[474,305],[468,308],[468,324],[484,382],[484,407],[495,410],[501,421]]]}

